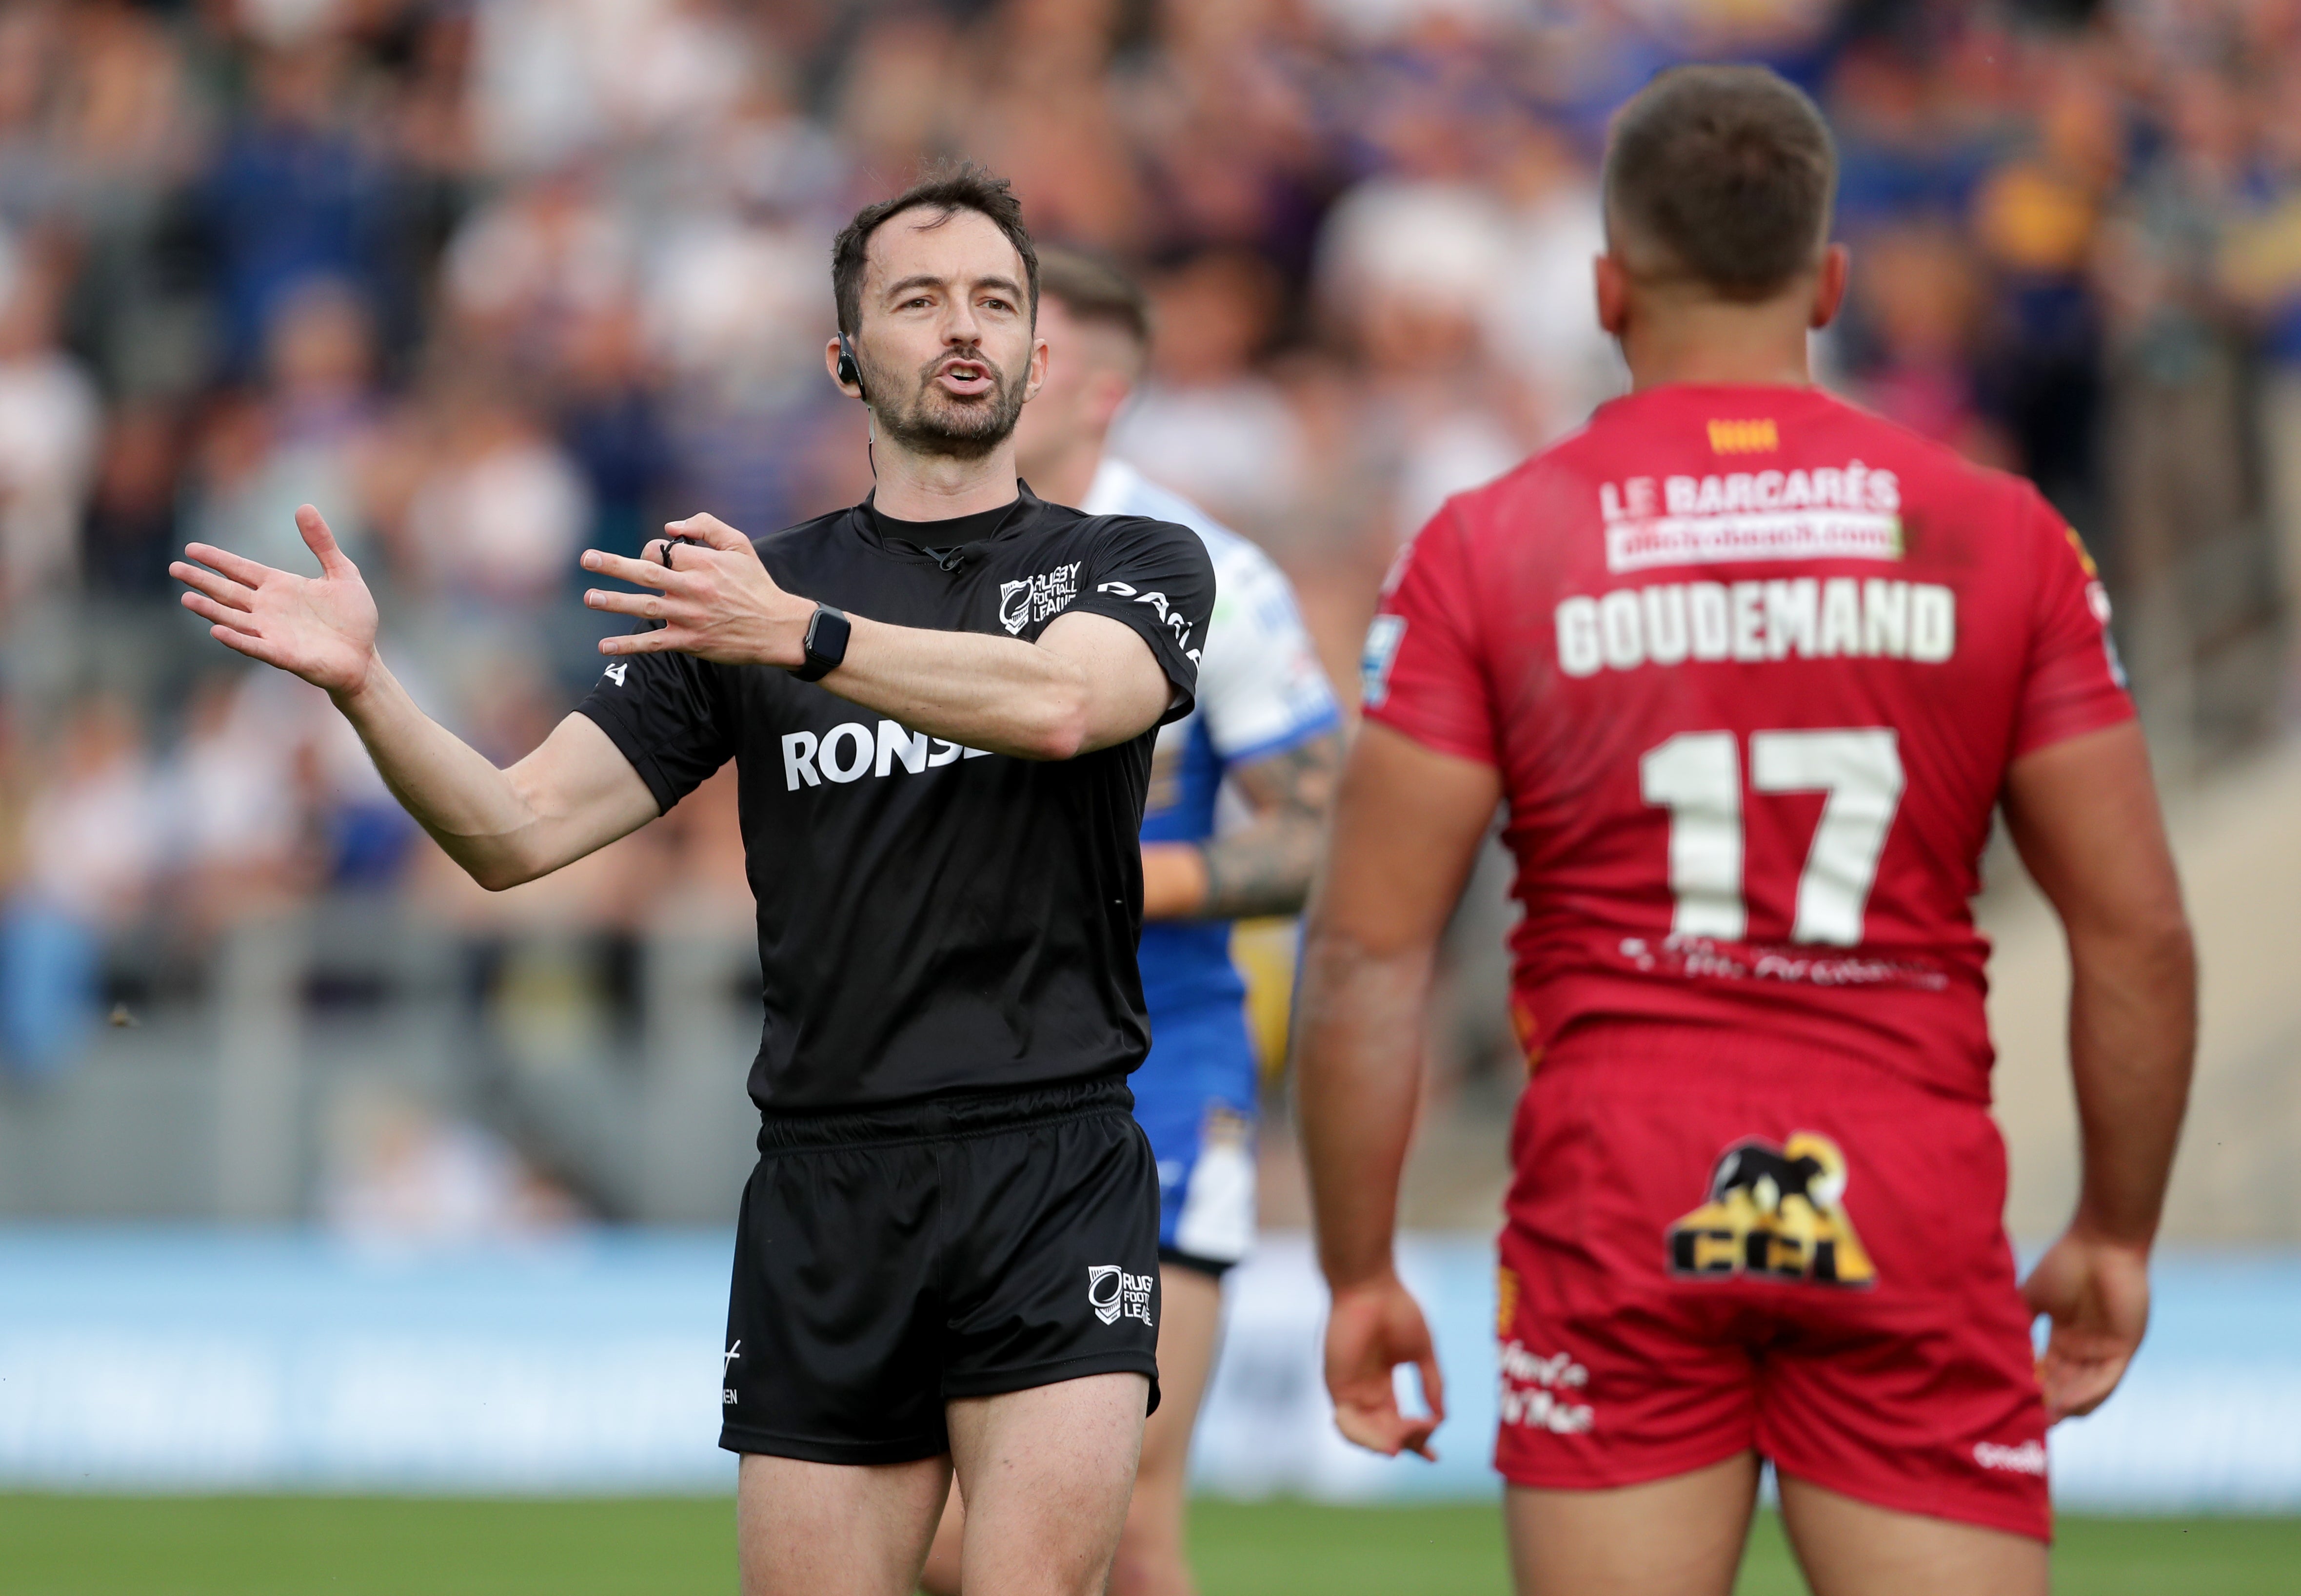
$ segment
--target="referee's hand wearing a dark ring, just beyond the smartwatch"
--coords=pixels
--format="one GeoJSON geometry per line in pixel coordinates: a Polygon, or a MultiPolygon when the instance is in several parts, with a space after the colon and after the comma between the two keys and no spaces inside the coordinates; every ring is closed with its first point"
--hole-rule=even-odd
{"type": "Polygon", "coordinates": [[[589,589],[582,600],[591,609],[663,621],[651,632],[601,637],[601,653],[693,653],[720,665],[808,662],[803,639],[815,605],[775,586],[750,538],[718,515],[690,515],[665,527],[674,543],[658,538],[647,545],[647,559],[626,559],[584,550],[582,568],[619,577],[651,593],[610,593],[589,589]]]}

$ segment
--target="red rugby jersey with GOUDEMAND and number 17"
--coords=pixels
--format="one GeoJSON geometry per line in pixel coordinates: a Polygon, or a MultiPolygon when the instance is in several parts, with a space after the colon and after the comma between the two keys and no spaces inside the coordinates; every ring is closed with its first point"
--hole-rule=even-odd
{"type": "Polygon", "coordinates": [[[1795,386],[1661,386],[1450,499],[1364,706],[1503,773],[1530,1056],[1710,1028],[1988,1097],[2006,764],[2133,713],[2027,483],[1795,386]]]}

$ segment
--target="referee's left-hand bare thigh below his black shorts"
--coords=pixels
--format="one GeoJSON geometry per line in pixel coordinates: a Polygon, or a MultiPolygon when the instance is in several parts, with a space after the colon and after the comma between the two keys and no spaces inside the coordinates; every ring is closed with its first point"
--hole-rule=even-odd
{"type": "Polygon", "coordinates": [[[854,1465],[743,1453],[743,1596],[907,1596],[948,1488],[950,1458],[854,1465]]]}

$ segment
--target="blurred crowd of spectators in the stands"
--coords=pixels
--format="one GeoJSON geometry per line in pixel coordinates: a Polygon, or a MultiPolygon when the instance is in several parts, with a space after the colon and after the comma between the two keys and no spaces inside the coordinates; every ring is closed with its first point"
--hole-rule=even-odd
{"type": "MultiPolygon", "coordinates": [[[[2278,727],[2301,0],[0,7],[0,1060],[67,1058],[120,947],[483,913],[318,695],[173,607],[184,540],[304,568],[322,506],[393,667],[522,754],[596,674],[580,547],[867,488],[828,239],[927,156],[1144,274],[1118,448],[1286,563],[1346,683],[1399,540],[1620,389],[1595,156],[1689,57],[1836,124],[1829,379],[2071,515],[2174,768],[2278,727]]],[[[688,809],[548,913],[739,901],[688,809]]]]}

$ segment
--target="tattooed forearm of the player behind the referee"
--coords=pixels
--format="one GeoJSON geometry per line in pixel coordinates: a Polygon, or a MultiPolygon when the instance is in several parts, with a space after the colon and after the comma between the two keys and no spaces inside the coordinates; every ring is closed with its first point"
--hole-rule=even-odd
{"type": "Polygon", "coordinates": [[[1249,920],[1302,908],[1335,803],[1341,734],[1236,766],[1254,821],[1226,837],[1144,844],[1146,920],[1249,920]]]}

